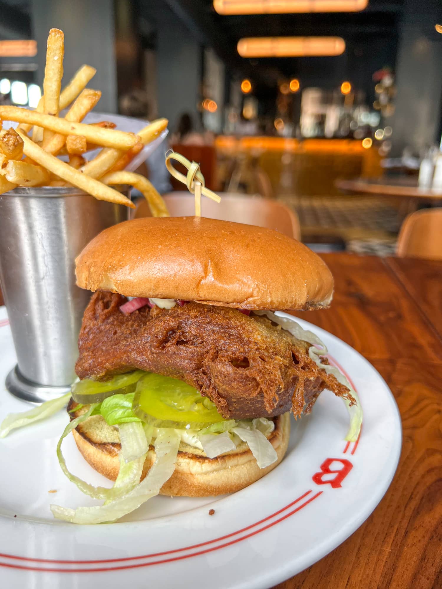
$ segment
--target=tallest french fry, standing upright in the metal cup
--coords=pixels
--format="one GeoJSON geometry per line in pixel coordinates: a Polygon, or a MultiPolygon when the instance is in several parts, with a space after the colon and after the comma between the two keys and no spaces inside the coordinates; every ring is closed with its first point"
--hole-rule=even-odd
{"type": "MultiPolygon", "coordinates": [[[[58,117],[60,112],[61,78],[63,77],[64,33],[51,29],[46,51],[45,77],[43,80],[43,112],[58,117]]],[[[45,128],[43,141],[48,141],[52,133],[45,128]]]]}

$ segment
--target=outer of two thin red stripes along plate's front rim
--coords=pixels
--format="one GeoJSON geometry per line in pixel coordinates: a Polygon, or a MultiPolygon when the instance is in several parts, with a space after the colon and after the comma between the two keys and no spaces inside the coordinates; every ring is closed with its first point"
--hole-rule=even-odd
{"type": "Polygon", "coordinates": [[[206,550],[200,550],[199,552],[193,552],[193,554],[183,554],[183,555],[177,556],[177,557],[164,558],[163,560],[156,560],[156,561],[151,561],[151,562],[138,562],[137,564],[121,565],[120,567],[110,567],[110,568],[101,567],[101,568],[73,569],[73,568],[25,567],[24,565],[9,564],[7,562],[0,562],[0,567],[18,568],[20,570],[26,570],[26,571],[42,571],[45,573],[105,573],[106,571],[121,571],[121,570],[130,569],[130,568],[151,567],[154,564],[164,564],[165,562],[174,562],[174,561],[178,561],[178,560],[184,560],[186,558],[192,558],[194,556],[199,556],[201,554],[207,554],[207,552],[214,552],[215,550],[220,550],[220,548],[225,548],[227,546],[231,546],[232,544],[237,544],[238,542],[242,542],[243,540],[247,540],[247,538],[251,538],[252,536],[255,536],[256,534],[260,534],[260,532],[263,532],[265,530],[268,530],[269,528],[272,528],[274,525],[279,524],[279,522],[282,522],[284,519],[287,519],[287,518],[291,517],[291,515],[295,514],[296,512],[301,511],[302,508],[306,507],[306,505],[308,505],[309,503],[314,501],[316,499],[316,497],[319,497],[319,495],[321,495],[323,492],[324,491],[319,491],[318,493],[316,493],[316,495],[313,495],[313,497],[307,499],[307,501],[305,501],[305,503],[303,503],[302,505],[299,505],[299,507],[296,507],[296,509],[293,509],[293,511],[290,511],[288,514],[283,515],[281,518],[276,519],[275,521],[271,522],[270,524],[265,525],[263,528],[260,528],[259,530],[255,530],[253,532],[250,532],[250,534],[246,534],[245,536],[242,536],[241,538],[236,538],[235,540],[230,540],[229,542],[225,542],[225,544],[220,544],[219,546],[213,546],[212,548],[206,548],[206,550]]]}

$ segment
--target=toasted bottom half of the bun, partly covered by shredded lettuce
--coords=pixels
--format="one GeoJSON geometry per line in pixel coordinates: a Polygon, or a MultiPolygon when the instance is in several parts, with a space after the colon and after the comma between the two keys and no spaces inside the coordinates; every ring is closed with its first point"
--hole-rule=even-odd
{"type": "MultiPolygon", "coordinates": [[[[72,433],[88,464],[104,477],[115,481],[120,468],[118,452],[121,448],[116,429],[107,425],[101,415],[95,415],[78,425],[72,433]]],[[[290,415],[285,413],[275,418],[275,429],[268,436],[278,460],[267,468],[259,468],[246,444],[240,444],[236,450],[222,456],[207,458],[200,449],[182,442],[174,473],[161,487],[160,495],[207,497],[248,487],[281,462],[287,450],[289,434],[290,415]]],[[[155,451],[150,446],[141,480],[146,477],[154,460],[155,451]]]]}

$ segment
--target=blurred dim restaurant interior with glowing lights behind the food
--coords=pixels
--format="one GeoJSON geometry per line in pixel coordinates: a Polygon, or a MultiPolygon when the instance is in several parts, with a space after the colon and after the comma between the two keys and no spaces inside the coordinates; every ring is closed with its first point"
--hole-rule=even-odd
{"type": "Polygon", "coordinates": [[[100,111],[169,119],[169,145],[144,168],[161,193],[181,190],[164,167],[173,147],[200,162],[213,190],[278,203],[263,214],[286,215],[318,251],[419,255],[431,237],[423,255],[440,255],[433,216],[414,251],[410,236],[397,243],[410,213],[436,215],[442,201],[440,1],[298,0],[285,14],[225,14],[271,4],[1,0],[0,102],[37,105],[48,29],[61,28],[65,76],[97,66],[100,111]]]}

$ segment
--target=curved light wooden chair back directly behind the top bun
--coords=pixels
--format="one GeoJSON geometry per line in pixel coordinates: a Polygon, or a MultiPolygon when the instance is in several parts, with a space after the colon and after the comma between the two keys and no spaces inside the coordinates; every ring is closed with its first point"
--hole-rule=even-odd
{"type": "MultiPolygon", "coordinates": [[[[202,198],[203,217],[236,221],[258,227],[269,227],[289,237],[301,239],[299,220],[293,211],[282,203],[267,200],[260,196],[245,196],[244,194],[219,193],[221,202],[215,203],[209,198],[202,198]]],[[[173,192],[163,195],[172,217],[187,217],[195,214],[194,197],[188,192],[173,192]]],[[[134,213],[134,217],[150,217],[150,209],[145,200],[141,200],[134,213]]]]}

